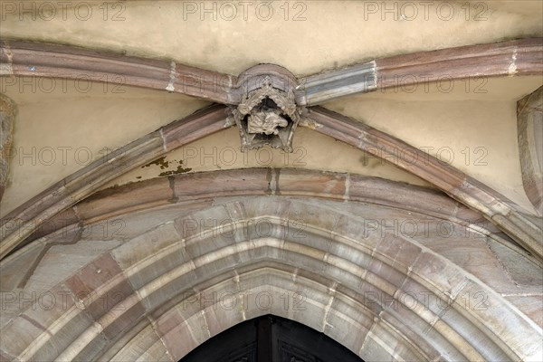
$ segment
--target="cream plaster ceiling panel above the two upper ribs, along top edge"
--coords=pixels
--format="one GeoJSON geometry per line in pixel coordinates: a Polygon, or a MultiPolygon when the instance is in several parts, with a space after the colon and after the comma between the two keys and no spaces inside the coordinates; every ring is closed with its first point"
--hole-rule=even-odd
{"type": "Polygon", "coordinates": [[[263,62],[307,75],[400,53],[543,34],[536,1],[61,3],[3,5],[2,36],[234,75],[263,62]]]}

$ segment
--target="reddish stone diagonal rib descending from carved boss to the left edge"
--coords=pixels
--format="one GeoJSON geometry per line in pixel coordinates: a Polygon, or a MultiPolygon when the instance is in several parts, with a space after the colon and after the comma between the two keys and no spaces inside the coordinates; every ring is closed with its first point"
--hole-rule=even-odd
{"type": "Polygon", "coordinates": [[[17,220],[21,227],[16,230],[5,228],[2,225],[1,231],[4,237],[0,243],[0,256],[4,257],[11,252],[19,243],[23,242],[39,224],[47,221],[55,214],[82,200],[92,192],[98,190],[115,176],[122,175],[133,167],[139,167],[146,162],[153,161],[167,152],[167,145],[176,148],[191,140],[204,137],[224,128],[220,122],[224,119],[224,108],[218,106],[202,113],[196,113],[184,121],[183,119],[173,122],[169,127],[149,133],[147,136],[138,138],[123,148],[117,150],[117,156],[106,155],[77,172],[66,177],[62,181],[44,190],[39,195],[24,203],[10,214],[5,216],[6,220],[17,220]],[[207,120],[210,123],[208,129],[202,129],[199,120],[207,120]],[[206,133],[207,132],[207,133],[206,133]],[[169,135],[169,136],[168,136],[169,135]],[[181,137],[177,137],[181,136],[181,137]],[[174,137],[175,141],[168,140],[174,137]],[[33,228],[28,227],[32,225],[33,228]]]}

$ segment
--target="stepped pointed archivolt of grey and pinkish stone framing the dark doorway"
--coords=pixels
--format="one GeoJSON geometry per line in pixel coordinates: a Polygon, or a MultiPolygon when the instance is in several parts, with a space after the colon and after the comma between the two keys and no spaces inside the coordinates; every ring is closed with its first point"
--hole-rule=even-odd
{"type": "Polygon", "coordinates": [[[367,360],[541,359],[540,327],[416,238],[364,236],[357,216],[338,211],[348,203],[236,199],[162,222],[71,271],[49,291],[63,303],[27,305],[4,324],[0,354],[14,361],[176,361],[236,323],[273,313],[367,360]],[[305,227],[289,227],[300,214],[305,227]],[[202,226],[208,219],[228,223],[202,226]],[[284,308],[294,291],[307,297],[305,308],[284,308]],[[269,308],[247,300],[259,293],[273,300],[269,308]],[[466,293],[484,294],[484,308],[467,306],[466,293]],[[225,295],[239,308],[224,308],[225,295]]]}

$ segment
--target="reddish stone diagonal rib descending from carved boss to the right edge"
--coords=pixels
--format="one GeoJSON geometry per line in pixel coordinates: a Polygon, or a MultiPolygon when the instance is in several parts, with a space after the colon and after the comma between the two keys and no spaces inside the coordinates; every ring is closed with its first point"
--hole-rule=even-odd
{"type": "Polygon", "coordinates": [[[541,230],[529,218],[522,217],[517,211],[519,205],[512,203],[506,196],[449,164],[443,164],[441,160],[424,154],[422,150],[362,122],[320,107],[311,108],[308,117],[308,123],[313,122],[314,129],[320,133],[376,157],[389,158],[395,166],[420,176],[463,205],[484,214],[493,224],[532,252],[539,262],[543,259],[543,245],[539,240],[541,230]],[[417,155],[417,158],[424,159],[425,162],[405,162],[401,157],[395,157],[398,150],[417,155]]]}

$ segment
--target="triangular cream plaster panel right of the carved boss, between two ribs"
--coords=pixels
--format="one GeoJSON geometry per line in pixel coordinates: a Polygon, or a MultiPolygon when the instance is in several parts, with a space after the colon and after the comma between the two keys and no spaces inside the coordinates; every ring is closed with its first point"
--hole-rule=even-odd
{"type": "Polygon", "coordinates": [[[540,78],[517,82],[510,93],[502,87],[511,82],[491,84],[496,87],[489,91],[498,95],[494,100],[478,95],[470,99],[463,91],[451,100],[439,92],[426,100],[388,91],[331,101],[325,107],[405,140],[533,212],[522,186],[516,100],[537,89],[540,78]]]}

